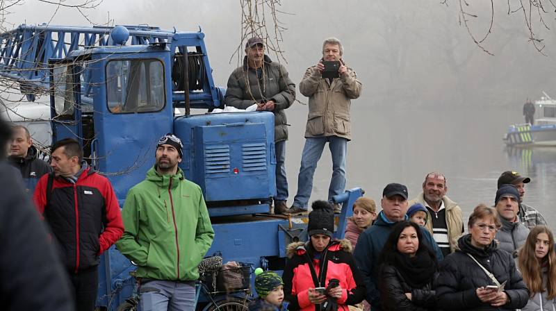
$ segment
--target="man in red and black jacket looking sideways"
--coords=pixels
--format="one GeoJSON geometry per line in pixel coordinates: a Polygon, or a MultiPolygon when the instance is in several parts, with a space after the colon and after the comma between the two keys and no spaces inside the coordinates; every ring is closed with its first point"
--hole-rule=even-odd
{"type": "Polygon", "coordinates": [[[52,146],[54,174],[40,178],[33,200],[50,226],[74,287],[76,310],[92,311],[99,255],[122,236],[120,206],[108,179],[83,161],[76,140],[52,146]]]}

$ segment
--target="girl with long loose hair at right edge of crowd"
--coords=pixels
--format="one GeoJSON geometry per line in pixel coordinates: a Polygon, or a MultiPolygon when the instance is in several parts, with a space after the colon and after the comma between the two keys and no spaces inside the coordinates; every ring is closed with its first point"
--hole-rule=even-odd
{"type": "Polygon", "coordinates": [[[518,267],[530,292],[530,299],[521,310],[556,310],[556,254],[552,231],[546,226],[532,228],[518,254],[518,267]]]}

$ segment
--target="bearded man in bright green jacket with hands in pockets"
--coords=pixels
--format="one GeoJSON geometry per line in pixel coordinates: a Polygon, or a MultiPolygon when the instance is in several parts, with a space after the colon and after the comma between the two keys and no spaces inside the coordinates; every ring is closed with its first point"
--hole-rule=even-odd
{"type": "Polygon", "coordinates": [[[158,140],[154,167],[129,190],[122,210],[116,246],[138,265],[141,310],[194,310],[197,265],[213,242],[201,188],[178,167],[182,148],[172,134],[158,140]]]}

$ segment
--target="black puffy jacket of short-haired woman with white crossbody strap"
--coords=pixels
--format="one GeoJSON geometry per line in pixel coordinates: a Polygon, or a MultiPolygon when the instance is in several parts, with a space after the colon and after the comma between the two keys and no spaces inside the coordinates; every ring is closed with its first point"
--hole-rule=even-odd
{"type": "Polygon", "coordinates": [[[440,274],[434,282],[437,305],[443,310],[512,310],[523,308],[529,301],[529,290],[516,269],[514,258],[492,242],[486,249],[471,246],[471,235],[458,239],[459,249],[444,258],[440,274]],[[477,297],[478,287],[494,285],[486,273],[466,253],[470,253],[499,283],[507,282],[504,291],[509,302],[500,308],[483,303],[477,297]]]}

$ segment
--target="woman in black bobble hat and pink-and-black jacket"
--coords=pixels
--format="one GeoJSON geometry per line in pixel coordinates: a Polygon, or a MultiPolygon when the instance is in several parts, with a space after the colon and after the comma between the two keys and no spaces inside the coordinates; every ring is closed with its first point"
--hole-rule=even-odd
{"type": "Polygon", "coordinates": [[[363,301],[365,286],[347,239],[332,239],[334,211],[327,201],[315,201],[309,213],[309,241],[288,245],[284,300],[288,310],[349,310],[363,301]],[[332,308],[331,308],[332,306],[332,308]],[[331,308],[331,309],[327,309],[331,308]]]}

